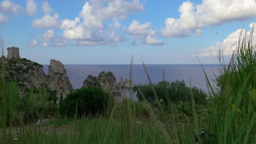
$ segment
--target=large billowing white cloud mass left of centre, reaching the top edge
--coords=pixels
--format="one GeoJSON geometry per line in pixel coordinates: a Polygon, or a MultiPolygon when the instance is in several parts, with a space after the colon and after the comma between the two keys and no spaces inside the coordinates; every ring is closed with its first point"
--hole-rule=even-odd
{"type": "Polygon", "coordinates": [[[60,27],[63,37],[73,40],[74,45],[112,45],[125,40],[118,33],[119,21],[141,10],[144,6],[138,0],[90,0],[80,11],[82,19],[64,19],[60,27]]]}

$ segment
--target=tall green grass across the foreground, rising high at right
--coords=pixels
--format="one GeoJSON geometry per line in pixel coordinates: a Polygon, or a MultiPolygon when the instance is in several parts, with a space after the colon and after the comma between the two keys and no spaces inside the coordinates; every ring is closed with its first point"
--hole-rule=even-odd
{"type": "Polygon", "coordinates": [[[167,97],[165,88],[162,88],[164,96],[161,95],[165,97],[165,105],[162,104],[145,67],[154,106],[138,88],[140,103],[132,100],[124,100],[123,105],[115,103],[108,115],[56,118],[37,125],[20,123],[17,127],[5,124],[13,111],[10,106],[13,95],[5,93],[5,82],[1,79],[0,143],[256,143],[253,29],[250,35],[241,32],[228,65],[223,62],[221,52],[219,61],[222,65],[217,77],[219,89],[210,85],[206,75],[207,103],[197,105],[190,92],[191,98],[184,107],[187,112],[179,110],[179,104],[167,97]]]}

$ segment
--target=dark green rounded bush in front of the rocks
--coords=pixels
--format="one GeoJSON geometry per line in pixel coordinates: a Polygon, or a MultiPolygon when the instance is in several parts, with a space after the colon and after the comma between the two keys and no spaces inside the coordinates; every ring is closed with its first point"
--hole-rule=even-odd
{"type": "Polygon", "coordinates": [[[106,113],[113,105],[113,97],[101,88],[80,88],[68,94],[60,104],[60,112],[63,116],[97,115],[106,113]]]}

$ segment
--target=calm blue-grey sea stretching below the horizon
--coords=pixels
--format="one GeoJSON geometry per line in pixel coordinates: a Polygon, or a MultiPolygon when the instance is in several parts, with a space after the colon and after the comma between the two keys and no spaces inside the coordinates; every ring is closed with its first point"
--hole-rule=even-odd
{"type": "MultiPolygon", "coordinates": [[[[43,65],[44,72],[48,74],[48,66],[43,65]]],[[[207,64],[202,65],[205,69],[208,78],[211,80],[212,85],[214,85],[213,79],[215,79],[214,74],[219,75],[218,68],[219,65],[207,64]]],[[[163,73],[165,71],[165,80],[175,81],[184,80],[187,86],[189,86],[191,79],[191,86],[196,86],[207,91],[205,75],[201,65],[197,64],[150,64],[146,65],[150,79],[152,82],[157,83],[162,81],[163,73]]],[[[67,70],[67,75],[73,85],[73,88],[80,88],[83,86],[83,82],[88,75],[98,76],[101,71],[112,71],[112,73],[117,77],[119,82],[120,77],[124,79],[129,79],[130,77],[130,65],[65,65],[67,70]]],[[[143,65],[133,65],[132,66],[132,81],[135,84],[148,83],[147,75],[144,71],[143,65]]]]}

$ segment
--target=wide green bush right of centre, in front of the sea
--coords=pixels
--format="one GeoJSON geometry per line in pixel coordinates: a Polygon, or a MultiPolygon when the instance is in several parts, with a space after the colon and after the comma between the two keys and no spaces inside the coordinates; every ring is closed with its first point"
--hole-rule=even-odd
{"type": "MultiPolygon", "coordinates": [[[[163,104],[167,104],[167,101],[191,101],[191,93],[193,93],[195,97],[195,102],[197,104],[203,104],[206,101],[206,93],[197,87],[189,88],[185,85],[184,81],[174,81],[174,82],[167,82],[162,81],[157,83],[156,85],[138,85],[135,87],[135,91],[138,89],[142,92],[144,97],[149,101],[149,103],[155,103],[155,96],[153,93],[153,89],[158,95],[158,99],[162,99],[163,104]]],[[[143,100],[141,93],[137,93],[137,97],[139,100],[143,100]]]]}

